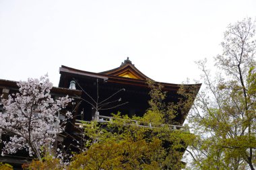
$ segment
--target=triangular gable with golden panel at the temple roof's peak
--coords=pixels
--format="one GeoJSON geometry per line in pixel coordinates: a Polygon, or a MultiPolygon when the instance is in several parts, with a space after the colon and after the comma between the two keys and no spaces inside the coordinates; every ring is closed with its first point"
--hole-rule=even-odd
{"type": "Polygon", "coordinates": [[[100,74],[104,75],[113,75],[113,76],[118,76],[118,77],[127,77],[131,79],[141,79],[141,80],[146,80],[150,79],[141,71],[139,71],[132,63],[131,60],[129,60],[129,57],[122,62],[120,67],[117,67],[115,69],[109,70],[109,71],[103,71],[100,74]]]}

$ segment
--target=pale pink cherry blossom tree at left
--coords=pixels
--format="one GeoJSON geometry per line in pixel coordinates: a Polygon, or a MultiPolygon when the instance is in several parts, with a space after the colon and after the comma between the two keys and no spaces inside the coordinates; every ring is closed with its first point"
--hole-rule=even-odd
{"type": "MultiPolygon", "coordinates": [[[[47,75],[20,81],[18,87],[18,93],[1,99],[0,130],[10,136],[3,141],[2,155],[26,149],[30,156],[42,160],[45,151],[53,147],[57,134],[63,132],[58,114],[71,99],[68,96],[53,99],[50,94],[53,84],[47,75]]],[[[71,118],[71,112],[65,116],[71,118]]]]}

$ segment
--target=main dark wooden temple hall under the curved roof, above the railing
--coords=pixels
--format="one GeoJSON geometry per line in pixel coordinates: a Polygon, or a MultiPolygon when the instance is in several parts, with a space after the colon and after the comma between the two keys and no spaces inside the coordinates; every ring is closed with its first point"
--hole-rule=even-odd
{"type": "MultiPolygon", "coordinates": [[[[69,88],[73,84],[73,87],[84,92],[83,101],[79,105],[79,112],[84,113],[82,120],[93,120],[95,112],[102,116],[110,116],[117,112],[130,117],[142,116],[150,107],[148,104],[150,88],[147,84],[150,78],[141,73],[129,58],[122,62],[120,67],[101,73],[81,71],[66,66],[61,66],[59,73],[61,74],[59,87],[69,88]]],[[[166,103],[177,103],[181,97],[177,93],[181,85],[160,84],[164,87],[163,91],[167,92],[166,103]]],[[[185,89],[193,87],[199,91],[201,84],[184,85],[184,87],[185,89]]],[[[185,113],[178,112],[174,122],[182,125],[188,112],[189,110],[185,113]]]]}

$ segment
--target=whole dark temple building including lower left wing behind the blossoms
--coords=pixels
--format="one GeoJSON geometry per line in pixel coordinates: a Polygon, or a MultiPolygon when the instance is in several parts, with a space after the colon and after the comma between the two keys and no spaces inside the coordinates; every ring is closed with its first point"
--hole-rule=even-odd
{"type": "MultiPolygon", "coordinates": [[[[72,135],[77,135],[79,126],[76,126],[77,120],[90,122],[96,120],[98,122],[107,122],[112,114],[127,114],[131,116],[143,116],[150,107],[150,87],[148,80],[152,80],[133,65],[131,60],[127,58],[121,65],[115,69],[103,71],[101,73],[92,73],[73,69],[71,67],[61,66],[59,68],[60,79],[59,87],[51,89],[53,97],[63,97],[69,95],[73,101],[68,105],[66,110],[73,113],[73,123],[66,127],[67,133],[59,135],[58,142],[70,144],[72,135]]],[[[29,75],[28,75],[29,77],[29,75]]],[[[0,95],[4,98],[11,93],[18,91],[18,82],[0,79],[0,95]]],[[[177,103],[181,97],[178,93],[182,85],[172,83],[160,83],[163,91],[166,91],[165,102],[177,103]]],[[[195,99],[201,84],[183,85],[185,90],[195,89],[193,99],[195,99]]],[[[4,112],[0,105],[0,112],[4,112]]],[[[173,127],[183,125],[189,110],[181,112],[177,110],[177,115],[173,122],[173,127]]],[[[137,123],[137,122],[136,122],[137,123]]],[[[179,129],[179,128],[175,128],[179,129]]],[[[8,134],[7,134],[8,135],[8,134]]],[[[0,137],[4,140],[7,135],[0,137]]],[[[3,142],[0,143],[0,150],[3,142]]],[[[15,155],[0,156],[0,162],[10,163],[15,169],[31,160],[24,152],[18,152],[15,155]]]]}

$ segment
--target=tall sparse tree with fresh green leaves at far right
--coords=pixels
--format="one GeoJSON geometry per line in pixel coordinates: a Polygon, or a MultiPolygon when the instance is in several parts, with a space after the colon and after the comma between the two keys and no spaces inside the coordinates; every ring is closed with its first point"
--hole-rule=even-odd
{"type": "Polygon", "coordinates": [[[194,169],[255,169],[255,24],[251,18],[230,24],[224,33],[212,77],[199,61],[205,87],[190,116],[197,135],[188,152],[194,169]]]}

